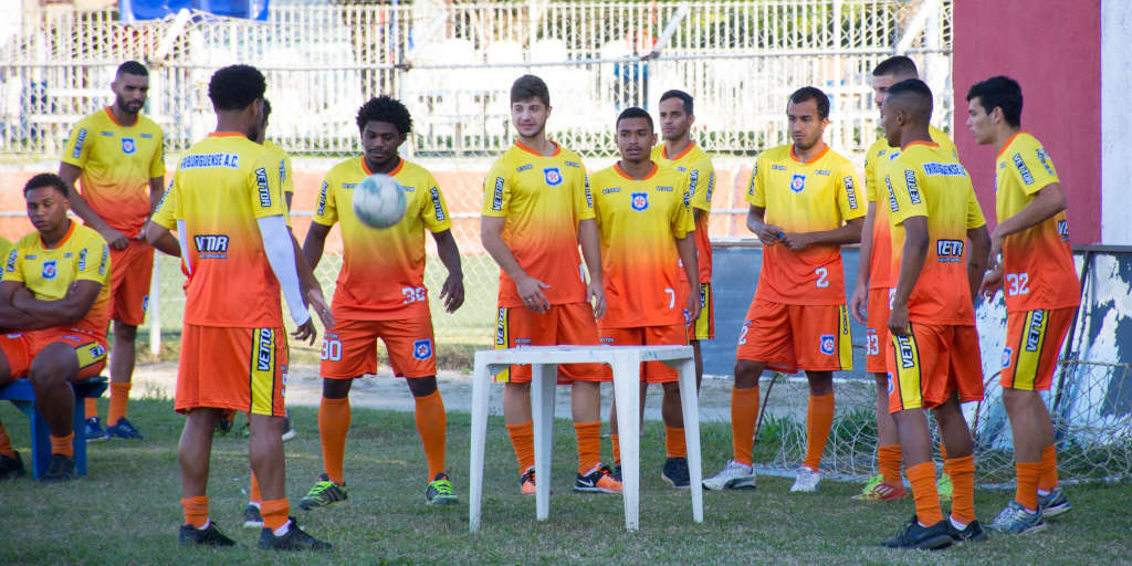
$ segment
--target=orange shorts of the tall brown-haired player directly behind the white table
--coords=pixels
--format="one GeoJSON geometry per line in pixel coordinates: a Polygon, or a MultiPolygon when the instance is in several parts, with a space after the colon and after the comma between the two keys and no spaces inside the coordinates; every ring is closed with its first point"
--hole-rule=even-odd
{"type": "MultiPolygon", "coordinates": [[[[496,318],[496,350],[522,346],[597,345],[598,323],[589,302],[554,305],[541,315],[526,307],[499,307],[496,318]]],[[[612,377],[601,363],[558,366],[558,384],[609,381],[612,377]]],[[[529,383],[530,366],[512,366],[496,376],[497,381],[529,383]]]]}

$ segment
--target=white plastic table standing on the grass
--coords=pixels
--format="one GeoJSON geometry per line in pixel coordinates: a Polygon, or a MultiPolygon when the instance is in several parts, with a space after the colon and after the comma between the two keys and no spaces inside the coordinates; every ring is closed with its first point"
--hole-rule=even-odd
{"type": "Polygon", "coordinates": [[[535,517],[550,515],[550,456],[555,426],[555,384],[559,363],[607,363],[614,369],[614,397],[617,400],[618,435],[621,448],[621,483],[625,499],[625,528],[640,526],[641,472],[641,362],[663,362],[679,372],[684,434],[688,447],[688,475],[692,517],[704,520],[703,471],[700,464],[700,412],[696,404],[695,365],[691,346],[525,346],[475,352],[472,383],[472,446],[470,465],[471,498],[469,529],[480,528],[483,499],[483,449],[488,427],[488,400],[492,377],[509,365],[531,366],[531,413],[534,421],[535,517]],[[621,415],[625,415],[623,418],[621,415]]]}

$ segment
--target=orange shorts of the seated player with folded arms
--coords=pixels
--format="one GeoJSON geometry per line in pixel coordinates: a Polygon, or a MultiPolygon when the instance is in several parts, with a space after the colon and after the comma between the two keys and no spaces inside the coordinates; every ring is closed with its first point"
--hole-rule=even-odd
{"type": "Polygon", "coordinates": [[[106,367],[106,338],[78,328],[43,328],[0,336],[0,351],[8,359],[11,378],[27,377],[35,357],[48,344],[62,342],[78,357],[75,379],[97,376],[106,367]]]}

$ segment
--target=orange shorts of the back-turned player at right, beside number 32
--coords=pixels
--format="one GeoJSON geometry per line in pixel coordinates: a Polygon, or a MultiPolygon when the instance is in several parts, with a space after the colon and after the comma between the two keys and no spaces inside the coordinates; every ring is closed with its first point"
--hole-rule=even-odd
{"type": "Polygon", "coordinates": [[[983,360],[974,326],[909,324],[911,336],[892,336],[889,411],[932,409],[959,393],[983,401],[983,360]]]}

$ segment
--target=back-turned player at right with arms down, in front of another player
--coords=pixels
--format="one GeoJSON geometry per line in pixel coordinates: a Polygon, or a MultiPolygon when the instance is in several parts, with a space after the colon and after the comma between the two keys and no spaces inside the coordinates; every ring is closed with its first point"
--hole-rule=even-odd
{"type": "Polygon", "coordinates": [[[887,324],[889,410],[916,499],[916,516],[881,542],[891,548],[935,549],[986,538],[975,518],[972,440],[960,403],[983,398],[971,297],[989,235],[967,170],[951,149],[932,142],[931,119],[932,91],[921,80],[889,88],[881,126],[901,151],[885,177],[897,276],[887,324]],[[944,470],[954,490],[949,518],[936,491],[928,409],[947,451],[944,470]]]}

